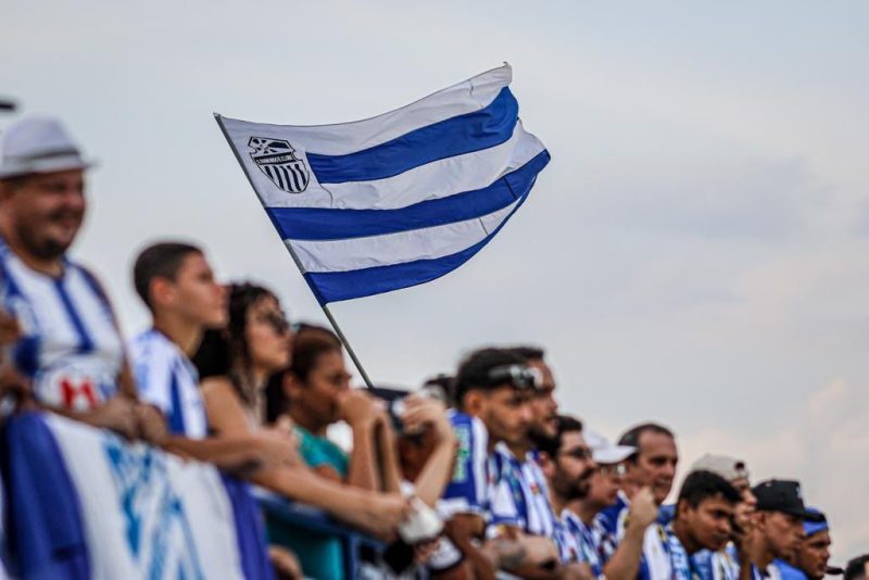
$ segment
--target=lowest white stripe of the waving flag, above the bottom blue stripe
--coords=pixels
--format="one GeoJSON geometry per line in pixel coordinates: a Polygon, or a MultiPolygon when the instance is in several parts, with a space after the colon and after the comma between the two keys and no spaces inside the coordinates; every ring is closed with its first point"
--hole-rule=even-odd
{"type": "Polygon", "coordinates": [[[348,272],[432,260],[461,252],[482,241],[516,207],[519,200],[488,215],[443,226],[343,240],[285,240],[303,272],[348,272]]]}

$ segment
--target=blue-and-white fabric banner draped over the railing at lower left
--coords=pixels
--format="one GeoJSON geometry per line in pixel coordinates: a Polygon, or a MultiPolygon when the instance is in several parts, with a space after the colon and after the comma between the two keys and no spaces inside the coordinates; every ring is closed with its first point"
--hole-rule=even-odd
{"type": "Polygon", "coordinates": [[[4,439],[22,578],[272,578],[256,503],[212,466],[40,413],[4,439]]]}

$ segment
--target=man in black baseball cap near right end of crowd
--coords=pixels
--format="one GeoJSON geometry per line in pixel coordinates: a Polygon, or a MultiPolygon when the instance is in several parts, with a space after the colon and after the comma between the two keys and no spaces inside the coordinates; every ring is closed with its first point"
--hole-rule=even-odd
{"type": "Polygon", "coordinates": [[[793,562],[803,540],[803,522],[820,522],[821,516],[806,509],[797,481],[770,479],[755,486],[752,493],[757,512],[745,544],[752,573],[779,580],[781,572],[773,560],[793,562]]]}

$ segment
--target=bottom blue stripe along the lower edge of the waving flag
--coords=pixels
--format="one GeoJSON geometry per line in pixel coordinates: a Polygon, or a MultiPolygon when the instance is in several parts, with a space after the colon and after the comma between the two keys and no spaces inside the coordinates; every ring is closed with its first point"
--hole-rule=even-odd
{"type": "MultiPolygon", "coordinates": [[[[304,277],[320,304],[381,294],[440,278],[470,260],[483,245],[489,243],[501,231],[504,224],[513,217],[513,214],[521,207],[522,203],[528,199],[528,193],[533,185],[534,179],[531,179],[527,190],[521,192],[520,201],[494,231],[480,242],[461,252],[434,260],[417,260],[390,266],[376,266],[349,272],[307,273],[304,277]]],[[[516,192],[517,194],[519,193],[519,191],[516,192]]]]}

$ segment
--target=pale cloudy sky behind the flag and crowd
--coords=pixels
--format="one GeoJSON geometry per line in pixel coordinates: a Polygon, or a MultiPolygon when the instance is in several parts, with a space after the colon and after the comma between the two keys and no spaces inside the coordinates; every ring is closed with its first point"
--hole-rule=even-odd
{"type": "Polygon", "coordinates": [[[564,412],[655,419],[685,467],[743,457],[869,547],[869,4],[4,2],[0,97],[100,161],[73,255],[124,329],[136,252],[194,240],[218,275],[325,324],[212,113],[369,117],[509,62],[553,161],[458,270],[332,305],[376,382],[495,343],[546,348],[564,412]]]}

